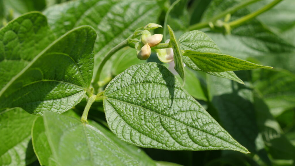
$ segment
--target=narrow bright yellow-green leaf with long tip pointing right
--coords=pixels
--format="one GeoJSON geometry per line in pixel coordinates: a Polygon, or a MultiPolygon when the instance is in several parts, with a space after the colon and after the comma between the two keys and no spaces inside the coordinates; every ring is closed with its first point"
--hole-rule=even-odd
{"type": "Polygon", "coordinates": [[[218,53],[202,53],[186,50],[183,55],[188,56],[203,71],[224,72],[260,68],[273,69],[269,66],[253,64],[239,58],[218,53]]]}

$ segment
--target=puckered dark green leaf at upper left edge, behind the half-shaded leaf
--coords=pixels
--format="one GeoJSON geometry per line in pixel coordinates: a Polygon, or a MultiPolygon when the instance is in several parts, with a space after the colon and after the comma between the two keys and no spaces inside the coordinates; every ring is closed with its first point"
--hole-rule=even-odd
{"type": "Polygon", "coordinates": [[[39,12],[24,14],[1,28],[0,89],[54,40],[46,17],[39,12]]]}

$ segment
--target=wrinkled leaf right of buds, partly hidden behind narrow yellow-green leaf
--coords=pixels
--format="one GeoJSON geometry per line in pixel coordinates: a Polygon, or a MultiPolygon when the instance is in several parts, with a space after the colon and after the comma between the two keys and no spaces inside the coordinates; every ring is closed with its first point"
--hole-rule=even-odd
{"type": "MultiPolygon", "coordinates": [[[[219,47],[216,43],[209,38],[204,32],[193,30],[190,32],[186,32],[179,38],[180,48],[181,50],[191,50],[196,52],[204,52],[204,53],[221,53],[219,47]]],[[[183,56],[184,63],[189,66],[191,69],[196,71],[201,70],[191,59],[187,56],[183,56]]],[[[222,77],[226,79],[231,79],[233,81],[239,82],[243,84],[243,81],[236,76],[233,71],[225,71],[225,72],[212,72],[205,71],[208,74],[222,77]]]]}

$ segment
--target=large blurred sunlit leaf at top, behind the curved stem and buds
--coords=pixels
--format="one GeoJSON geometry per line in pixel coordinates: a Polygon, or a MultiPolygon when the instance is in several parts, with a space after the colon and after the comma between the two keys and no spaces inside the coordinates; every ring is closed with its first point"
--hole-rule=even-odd
{"type": "Polygon", "coordinates": [[[157,22],[163,3],[163,0],[77,0],[51,6],[44,14],[57,36],[81,25],[94,27],[97,33],[94,49],[96,74],[97,65],[110,49],[137,28],[157,22]]]}

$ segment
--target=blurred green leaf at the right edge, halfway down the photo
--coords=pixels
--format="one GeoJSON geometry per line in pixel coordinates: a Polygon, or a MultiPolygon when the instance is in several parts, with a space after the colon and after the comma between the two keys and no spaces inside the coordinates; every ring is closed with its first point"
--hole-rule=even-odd
{"type": "Polygon", "coordinates": [[[295,75],[283,69],[254,72],[255,89],[274,116],[295,107],[295,75]]]}

